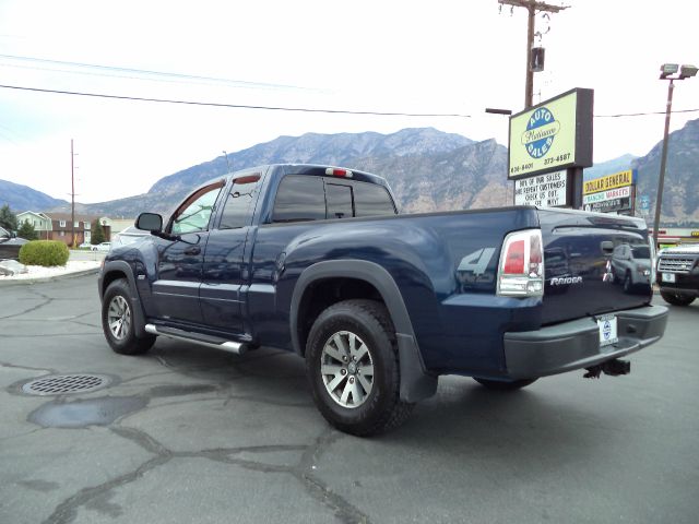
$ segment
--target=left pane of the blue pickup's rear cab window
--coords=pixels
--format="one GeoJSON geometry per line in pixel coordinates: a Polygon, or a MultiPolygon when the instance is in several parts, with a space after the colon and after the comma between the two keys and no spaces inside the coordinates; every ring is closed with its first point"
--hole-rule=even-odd
{"type": "Polygon", "coordinates": [[[304,175],[284,177],[276,192],[272,222],[323,219],[325,219],[323,179],[304,175]]]}

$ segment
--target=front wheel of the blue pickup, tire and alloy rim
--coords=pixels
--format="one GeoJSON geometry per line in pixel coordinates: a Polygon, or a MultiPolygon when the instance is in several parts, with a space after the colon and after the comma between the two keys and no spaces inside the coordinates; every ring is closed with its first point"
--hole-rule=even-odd
{"type": "Polygon", "coordinates": [[[137,336],[133,325],[133,302],[129,283],[114,281],[102,299],[102,329],[107,343],[120,355],[142,355],[155,342],[155,335],[137,336]]]}

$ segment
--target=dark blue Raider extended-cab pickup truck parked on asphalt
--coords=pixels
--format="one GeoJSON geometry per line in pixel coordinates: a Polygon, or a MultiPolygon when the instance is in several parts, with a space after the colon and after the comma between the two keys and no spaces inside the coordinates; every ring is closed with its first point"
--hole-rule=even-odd
{"type": "Polygon", "coordinates": [[[115,247],[99,273],[111,348],[157,336],[306,359],[316,405],[342,431],[404,421],[438,377],[517,390],[661,338],[667,309],[649,283],[625,293],[614,248],[649,246],[642,221],[516,206],[398,213],[384,179],[329,166],[271,165],[191,192],[164,222],[115,247]]]}

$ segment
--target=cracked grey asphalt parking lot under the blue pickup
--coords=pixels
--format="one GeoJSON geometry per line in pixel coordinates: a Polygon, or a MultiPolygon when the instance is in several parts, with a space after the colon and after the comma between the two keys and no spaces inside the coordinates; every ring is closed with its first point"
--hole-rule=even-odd
{"type": "Polygon", "coordinates": [[[442,378],[405,426],[358,439],[291,354],[163,338],[118,356],[95,275],[2,286],[0,522],[696,523],[698,321],[671,308],[628,377],[442,378]],[[100,389],[23,391],[66,373],[100,389]]]}

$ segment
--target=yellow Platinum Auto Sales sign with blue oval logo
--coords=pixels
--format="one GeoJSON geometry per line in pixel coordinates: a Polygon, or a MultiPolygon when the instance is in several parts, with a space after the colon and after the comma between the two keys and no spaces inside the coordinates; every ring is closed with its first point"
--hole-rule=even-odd
{"type": "Polygon", "coordinates": [[[512,116],[508,178],[591,166],[592,102],[577,88],[512,116]]]}

